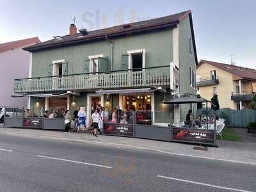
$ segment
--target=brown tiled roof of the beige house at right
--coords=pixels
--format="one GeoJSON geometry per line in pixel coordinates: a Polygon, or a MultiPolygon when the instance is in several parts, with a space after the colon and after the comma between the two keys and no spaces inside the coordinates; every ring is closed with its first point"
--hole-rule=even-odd
{"type": "Polygon", "coordinates": [[[202,65],[202,63],[208,63],[210,65],[213,65],[214,67],[221,68],[222,70],[225,70],[230,74],[234,74],[235,76],[239,76],[243,79],[256,80],[256,70],[253,68],[240,67],[237,65],[230,65],[226,63],[218,63],[218,62],[207,61],[207,60],[201,60],[198,63],[198,67],[202,65]]]}

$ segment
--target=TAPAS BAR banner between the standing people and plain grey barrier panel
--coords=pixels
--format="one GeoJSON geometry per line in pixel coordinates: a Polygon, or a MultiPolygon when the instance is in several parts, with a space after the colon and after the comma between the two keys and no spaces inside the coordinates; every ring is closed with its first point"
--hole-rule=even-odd
{"type": "Polygon", "coordinates": [[[104,133],[118,136],[133,136],[132,124],[104,124],[104,133]]]}

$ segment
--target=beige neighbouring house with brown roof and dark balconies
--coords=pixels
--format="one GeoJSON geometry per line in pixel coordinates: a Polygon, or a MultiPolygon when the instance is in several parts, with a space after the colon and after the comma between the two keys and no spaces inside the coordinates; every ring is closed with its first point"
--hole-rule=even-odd
{"type": "Polygon", "coordinates": [[[248,108],[256,93],[256,70],[201,60],[196,68],[196,86],[205,99],[218,95],[220,108],[248,108]]]}

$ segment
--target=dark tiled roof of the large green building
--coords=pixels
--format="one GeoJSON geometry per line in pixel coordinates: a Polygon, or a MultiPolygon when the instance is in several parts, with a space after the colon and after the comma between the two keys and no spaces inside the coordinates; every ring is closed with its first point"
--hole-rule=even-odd
{"type": "MultiPolygon", "coordinates": [[[[124,35],[129,33],[134,33],[135,31],[143,31],[163,28],[164,26],[175,26],[179,23],[180,20],[184,19],[187,15],[189,15],[191,11],[181,12],[174,15],[169,15],[166,17],[159,17],[157,19],[143,20],[139,22],[132,22],[130,24],[122,24],[119,26],[113,26],[110,28],[98,29],[95,31],[88,31],[88,35],[82,35],[81,33],[77,33],[76,35],[65,35],[61,36],[62,40],[52,39],[46,42],[42,42],[41,44],[32,45],[24,48],[26,51],[38,51],[42,49],[49,49],[53,47],[61,47],[72,44],[81,44],[85,42],[89,42],[92,40],[99,40],[102,38],[106,38],[106,35],[109,37],[116,35],[124,35]],[[131,25],[131,27],[126,28],[124,26],[131,25]]],[[[85,30],[85,29],[84,29],[85,30]]],[[[83,31],[81,29],[80,31],[83,31]]]]}

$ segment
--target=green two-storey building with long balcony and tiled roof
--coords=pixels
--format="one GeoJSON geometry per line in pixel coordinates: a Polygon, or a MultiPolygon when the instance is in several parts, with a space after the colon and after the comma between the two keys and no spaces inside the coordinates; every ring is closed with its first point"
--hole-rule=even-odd
{"type": "Polygon", "coordinates": [[[178,124],[191,106],[161,102],[196,93],[190,11],[97,33],[82,29],[25,50],[31,52],[30,76],[15,80],[15,92],[28,96],[28,108],[35,115],[43,107],[74,111],[84,106],[90,116],[95,104],[100,104],[110,114],[120,106],[150,111],[142,122],[178,124]]]}

